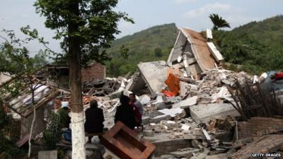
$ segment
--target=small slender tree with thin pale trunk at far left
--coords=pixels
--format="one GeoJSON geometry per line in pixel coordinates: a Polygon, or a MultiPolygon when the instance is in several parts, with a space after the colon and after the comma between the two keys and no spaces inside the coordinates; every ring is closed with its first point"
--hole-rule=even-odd
{"type": "MultiPolygon", "coordinates": [[[[26,28],[21,28],[21,30],[23,31],[26,28]]],[[[33,75],[37,71],[39,66],[34,63],[34,59],[29,56],[30,52],[23,44],[30,42],[30,40],[34,40],[34,38],[29,37],[25,40],[20,40],[16,38],[13,30],[4,30],[4,33],[6,33],[7,38],[0,35],[1,39],[4,40],[4,42],[0,44],[0,71],[8,73],[6,74],[8,76],[13,75],[14,82],[13,84],[2,86],[4,87],[4,89],[1,89],[0,94],[9,93],[14,97],[18,95],[18,90],[20,88],[28,87],[30,90],[31,100],[33,104],[33,122],[30,126],[30,138],[28,140],[28,157],[30,157],[30,141],[33,136],[33,126],[36,116],[34,107],[35,90],[42,85],[40,83],[34,83],[33,81],[33,75]]],[[[37,34],[37,30],[30,31],[30,35],[32,34],[37,34]]]]}

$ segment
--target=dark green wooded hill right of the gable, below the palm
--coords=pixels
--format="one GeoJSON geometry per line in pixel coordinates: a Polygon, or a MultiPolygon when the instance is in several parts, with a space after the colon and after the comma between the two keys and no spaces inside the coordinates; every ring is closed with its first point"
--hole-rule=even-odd
{"type": "MultiPolygon", "coordinates": [[[[283,16],[214,31],[214,42],[225,61],[243,65],[250,73],[281,70],[283,64],[283,16]]],[[[239,70],[240,71],[240,70],[239,70]]]]}

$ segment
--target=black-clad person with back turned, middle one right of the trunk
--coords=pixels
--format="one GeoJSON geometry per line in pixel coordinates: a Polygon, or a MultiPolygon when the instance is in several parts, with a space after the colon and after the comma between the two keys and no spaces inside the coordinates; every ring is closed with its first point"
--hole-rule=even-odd
{"type": "Polygon", "coordinates": [[[117,107],[116,113],[115,113],[115,119],[114,122],[122,122],[126,126],[128,126],[130,129],[134,129],[134,126],[136,126],[135,121],[135,115],[134,110],[132,109],[132,106],[129,105],[129,98],[125,95],[122,95],[120,97],[120,103],[117,107]]]}

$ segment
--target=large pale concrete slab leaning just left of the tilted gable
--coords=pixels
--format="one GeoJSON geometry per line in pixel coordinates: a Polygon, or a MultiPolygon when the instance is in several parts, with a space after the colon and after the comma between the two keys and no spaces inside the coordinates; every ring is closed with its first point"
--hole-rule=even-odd
{"type": "Polygon", "coordinates": [[[151,93],[159,93],[163,87],[166,87],[164,81],[167,78],[168,66],[165,61],[144,62],[137,66],[151,93]]]}

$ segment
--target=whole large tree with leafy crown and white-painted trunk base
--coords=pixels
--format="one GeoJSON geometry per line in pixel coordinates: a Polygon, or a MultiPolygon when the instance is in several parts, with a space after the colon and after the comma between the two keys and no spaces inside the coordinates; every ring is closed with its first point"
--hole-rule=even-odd
{"type": "Polygon", "coordinates": [[[71,90],[72,158],[86,158],[84,148],[83,105],[81,95],[81,66],[95,59],[108,58],[105,49],[115,39],[117,22],[132,19],[126,13],[112,9],[118,0],[37,0],[37,13],[46,17],[45,26],[56,30],[54,36],[62,40],[63,55],[69,66],[71,90]]]}

